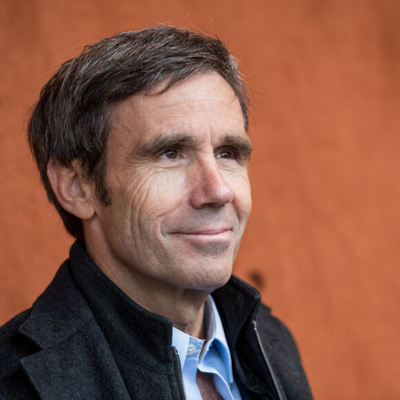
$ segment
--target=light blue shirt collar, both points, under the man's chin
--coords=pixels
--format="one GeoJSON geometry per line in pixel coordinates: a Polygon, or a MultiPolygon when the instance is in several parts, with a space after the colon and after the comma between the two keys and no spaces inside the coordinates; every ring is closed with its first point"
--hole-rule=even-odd
{"type": "MultiPolygon", "coordinates": [[[[204,323],[207,341],[203,350],[202,359],[206,356],[210,346],[217,346],[219,354],[221,354],[221,359],[226,367],[226,371],[228,372],[229,383],[233,383],[232,358],[230,357],[228,342],[226,341],[225,332],[223,330],[217,306],[215,306],[214,300],[211,296],[208,296],[206,299],[204,323]]],[[[186,334],[177,328],[172,328],[172,346],[177,349],[182,368],[186,360],[190,339],[191,337],[189,334],[186,334]]],[[[196,338],[192,339],[199,340],[196,338]]]]}

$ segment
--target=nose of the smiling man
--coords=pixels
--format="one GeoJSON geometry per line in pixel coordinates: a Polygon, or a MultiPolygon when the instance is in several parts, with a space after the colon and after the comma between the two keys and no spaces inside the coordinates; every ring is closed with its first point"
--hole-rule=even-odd
{"type": "Polygon", "coordinates": [[[217,160],[211,159],[197,163],[191,176],[190,202],[194,208],[223,206],[233,199],[233,191],[223,179],[217,160]]]}

